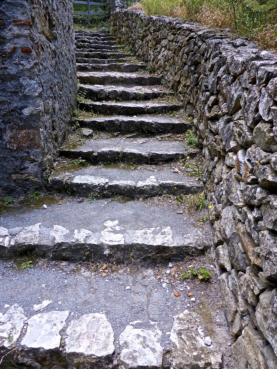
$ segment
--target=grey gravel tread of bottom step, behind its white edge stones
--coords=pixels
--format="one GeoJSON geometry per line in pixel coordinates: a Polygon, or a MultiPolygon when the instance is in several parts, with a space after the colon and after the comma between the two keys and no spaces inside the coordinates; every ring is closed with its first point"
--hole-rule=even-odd
{"type": "Polygon", "coordinates": [[[127,324],[134,320],[155,321],[167,348],[174,315],[187,309],[202,317],[205,333],[223,353],[223,368],[231,368],[231,338],[220,303],[216,271],[208,255],[187,257],[182,263],[170,265],[73,264],[31,259],[31,267],[21,269],[26,261],[28,257],[0,261],[0,312],[6,311],[6,304],[18,303],[30,317],[35,314],[34,304],[43,300],[53,302],[42,311],[69,310],[67,324],[82,314],[102,312],[112,324],[117,348],[119,335],[127,324]],[[196,270],[201,266],[212,272],[208,282],[181,279],[188,268],[196,270]],[[165,287],[164,280],[169,281],[165,287]],[[176,292],[178,297],[174,296],[176,292]]]}

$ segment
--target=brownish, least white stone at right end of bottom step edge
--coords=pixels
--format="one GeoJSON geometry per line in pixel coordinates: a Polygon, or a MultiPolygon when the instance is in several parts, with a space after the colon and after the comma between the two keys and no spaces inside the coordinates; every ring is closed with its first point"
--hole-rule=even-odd
{"type": "Polygon", "coordinates": [[[201,324],[201,319],[188,310],[174,316],[170,334],[174,369],[221,367],[221,354],[213,345],[205,345],[201,324]]]}

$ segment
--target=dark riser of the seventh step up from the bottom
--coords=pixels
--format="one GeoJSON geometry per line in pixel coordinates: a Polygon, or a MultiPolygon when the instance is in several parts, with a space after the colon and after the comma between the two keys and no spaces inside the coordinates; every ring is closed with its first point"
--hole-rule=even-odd
{"type": "Polygon", "coordinates": [[[120,89],[110,89],[106,90],[105,87],[103,88],[89,88],[84,86],[79,86],[78,90],[81,91],[85,98],[93,99],[93,100],[150,100],[150,99],[157,99],[158,97],[162,97],[164,95],[168,95],[170,93],[165,92],[158,92],[158,91],[151,91],[151,92],[137,92],[136,90],[133,91],[124,91],[120,89]]]}

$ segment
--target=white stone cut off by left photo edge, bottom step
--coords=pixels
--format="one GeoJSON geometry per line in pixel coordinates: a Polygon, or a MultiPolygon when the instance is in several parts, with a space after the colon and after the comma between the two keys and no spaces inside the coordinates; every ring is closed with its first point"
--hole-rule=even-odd
{"type": "MultiPolygon", "coordinates": [[[[9,307],[9,305],[5,305],[5,307],[9,307]]],[[[23,308],[18,307],[17,304],[0,317],[0,352],[4,352],[5,348],[13,348],[26,319],[23,308]]]]}

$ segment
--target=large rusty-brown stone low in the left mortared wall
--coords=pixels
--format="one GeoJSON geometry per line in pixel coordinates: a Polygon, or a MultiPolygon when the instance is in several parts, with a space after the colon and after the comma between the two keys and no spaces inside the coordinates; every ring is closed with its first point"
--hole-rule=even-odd
{"type": "Polygon", "coordinates": [[[7,127],[6,147],[11,150],[40,149],[42,148],[39,130],[21,128],[10,125],[7,127]]]}

